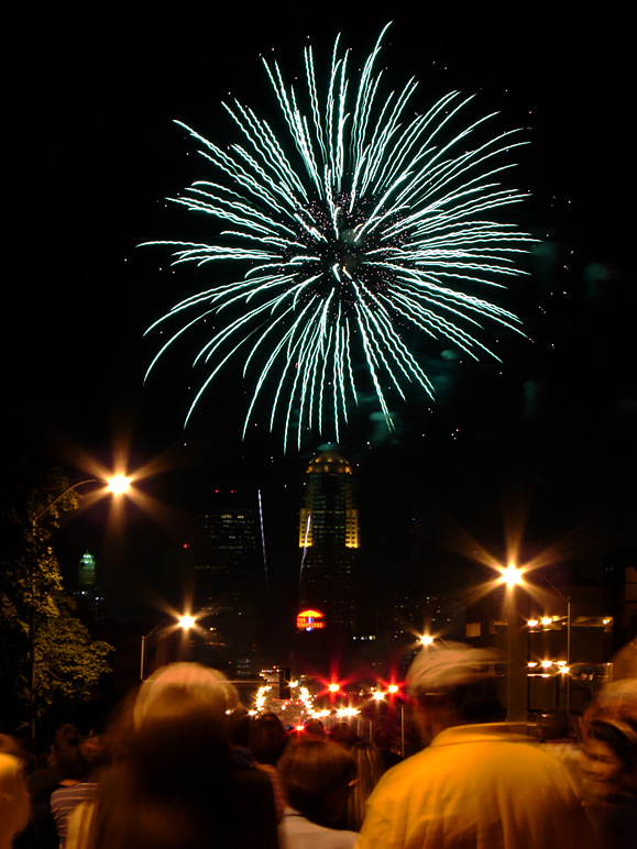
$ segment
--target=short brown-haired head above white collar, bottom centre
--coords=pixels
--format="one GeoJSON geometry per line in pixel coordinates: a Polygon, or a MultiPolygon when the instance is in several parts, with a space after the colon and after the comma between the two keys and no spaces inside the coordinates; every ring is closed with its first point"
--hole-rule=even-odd
{"type": "Polygon", "coordinates": [[[278,771],[286,798],[299,814],[328,828],[342,819],[356,774],[354,759],[347,749],[301,738],[287,747],[278,771]]]}

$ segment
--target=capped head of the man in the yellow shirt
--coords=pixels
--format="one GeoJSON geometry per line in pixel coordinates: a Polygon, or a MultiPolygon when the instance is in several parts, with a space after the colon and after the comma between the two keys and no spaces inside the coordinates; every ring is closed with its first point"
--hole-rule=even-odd
{"type": "Polygon", "coordinates": [[[407,692],[426,742],[444,728],[505,718],[495,688],[493,650],[462,643],[425,647],[407,672],[407,692]]]}

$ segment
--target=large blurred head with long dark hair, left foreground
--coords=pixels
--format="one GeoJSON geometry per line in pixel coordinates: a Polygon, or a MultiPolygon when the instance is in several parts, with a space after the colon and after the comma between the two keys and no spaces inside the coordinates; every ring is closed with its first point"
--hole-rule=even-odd
{"type": "Polygon", "coordinates": [[[129,753],[100,781],[94,849],[224,846],[232,815],[223,676],[191,663],[157,670],[133,709],[129,753]]]}

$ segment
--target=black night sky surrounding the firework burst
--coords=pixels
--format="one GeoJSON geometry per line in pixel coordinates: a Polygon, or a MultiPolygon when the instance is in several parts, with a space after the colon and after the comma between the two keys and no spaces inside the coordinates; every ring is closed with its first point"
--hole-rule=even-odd
{"type": "MultiPolygon", "coordinates": [[[[415,75],[414,103],[422,109],[450,89],[476,92],[475,117],[495,109],[499,129],[528,128],[512,185],[532,197],[509,214],[542,244],[525,261],[531,275],[503,296],[527,338],[488,331],[502,365],[460,362],[442,353],[444,344],[424,349],[436,404],[395,406],[393,434],[363,405],[345,433],[342,451],[359,464],[363,567],[382,588],[417,556],[432,586],[454,588],[468,573],[444,552],[460,547],[460,529],[497,550],[507,516],[524,512],[529,551],[568,537],[562,555],[593,575],[609,551],[637,544],[626,26],[536,9],[516,10],[515,19],[422,9],[394,14],[385,85],[402,87],[415,75]]],[[[388,19],[355,3],[272,10],[174,7],[171,18],[112,13],[90,23],[51,14],[29,22],[15,53],[7,208],[18,244],[6,244],[6,255],[18,262],[2,311],[6,448],[37,449],[72,481],[87,476],[83,455],[109,464],[122,445],[131,470],[151,463],[154,474],[140,487],[160,512],[149,518],[130,505],[112,542],[106,508],[95,508],[62,537],[68,563],[84,545],[97,549],[122,610],[134,599],[178,600],[188,517],[216,488],[235,488],[251,503],[261,489],[274,585],[283,593],[296,581],[303,472],[322,440],[284,455],[281,432],[271,437],[263,416],[242,443],[251,385],[232,370],[184,431],[199,381],[189,349],[168,356],[144,386],[158,340],[142,337],[202,289],[206,274],[174,272],[167,249],[136,247],[206,234],[206,221],[165,201],[205,175],[173,119],[230,143],[235,135],[220,106],[228,92],[264,117],[276,113],[261,53],[300,74],[307,36],[327,64],[342,32],[362,59],[388,19]]]]}

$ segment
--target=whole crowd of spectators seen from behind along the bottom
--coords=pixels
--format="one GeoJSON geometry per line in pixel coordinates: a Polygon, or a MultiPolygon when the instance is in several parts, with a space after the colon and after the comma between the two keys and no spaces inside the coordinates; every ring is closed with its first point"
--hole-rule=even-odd
{"type": "Polygon", "coordinates": [[[627,849],[637,846],[637,679],[605,686],[575,745],[516,735],[488,651],[421,651],[403,760],[320,720],[252,717],[213,670],[176,663],[105,735],[62,726],[45,763],[0,735],[0,849],[627,849]]]}

